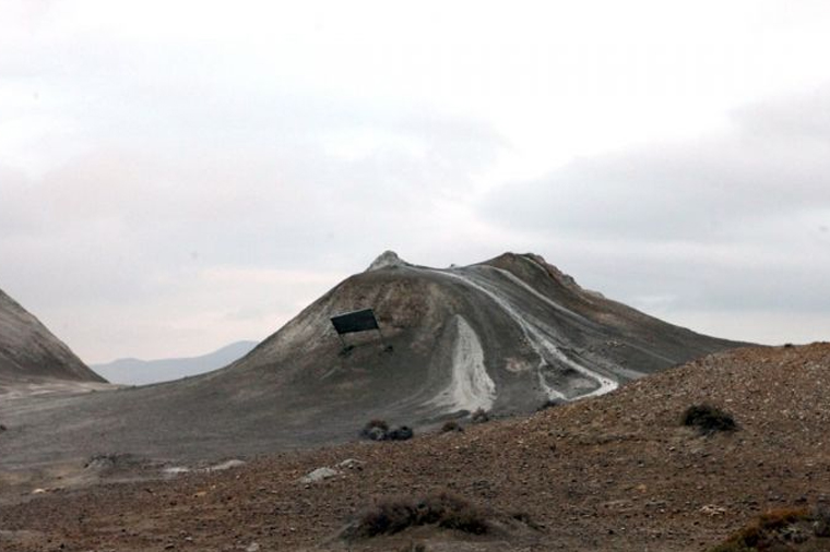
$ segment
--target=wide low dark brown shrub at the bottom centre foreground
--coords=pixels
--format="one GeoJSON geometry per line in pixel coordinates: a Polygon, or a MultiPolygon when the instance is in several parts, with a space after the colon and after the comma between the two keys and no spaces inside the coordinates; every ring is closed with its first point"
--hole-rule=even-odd
{"type": "Polygon", "coordinates": [[[442,491],[422,499],[376,501],[346,530],[346,538],[393,535],[410,527],[436,525],[444,529],[483,535],[489,530],[486,512],[471,502],[442,491]]]}

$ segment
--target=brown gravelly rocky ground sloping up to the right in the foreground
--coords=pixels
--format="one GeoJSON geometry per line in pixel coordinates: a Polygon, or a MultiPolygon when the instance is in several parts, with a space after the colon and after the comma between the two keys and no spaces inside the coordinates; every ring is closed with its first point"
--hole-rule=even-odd
{"type": "MultiPolygon", "coordinates": [[[[702,551],[763,511],[830,501],[828,397],[830,345],[737,349],[464,432],[166,480],[17,487],[0,505],[0,550],[702,551]],[[684,410],[700,403],[732,413],[739,430],[684,427],[684,410]],[[337,473],[301,480],[321,467],[337,473]],[[444,489],[490,509],[497,528],[339,538],[379,497],[444,489]]],[[[142,469],[119,463],[93,467],[142,469]]]]}

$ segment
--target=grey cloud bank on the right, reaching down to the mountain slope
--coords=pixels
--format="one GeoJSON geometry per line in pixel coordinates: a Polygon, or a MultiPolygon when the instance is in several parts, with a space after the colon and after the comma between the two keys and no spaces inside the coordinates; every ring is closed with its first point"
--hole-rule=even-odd
{"type": "MultiPolygon", "coordinates": [[[[830,274],[829,112],[827,88],[756,104],[716,135],[582,158],[503,185],[481,213],[556,252],[552,261],[589,275],[592,287],[656,314],[815,319],[830,308],[821,291],[830,274]]],[[[802,335],[818,337],[808,327],[802,335]]]]}

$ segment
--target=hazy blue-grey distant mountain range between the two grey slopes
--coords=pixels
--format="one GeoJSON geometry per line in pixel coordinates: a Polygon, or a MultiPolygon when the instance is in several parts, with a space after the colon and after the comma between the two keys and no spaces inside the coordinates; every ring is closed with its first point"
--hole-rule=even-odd
{"type": "Polygon", "coordinates": [[[92,369],[111,383],[147,385],[202,374],[225,367],[248,355],[257,341],[236,341],[199,357],[140,360],[118,359],[92,369]]]}

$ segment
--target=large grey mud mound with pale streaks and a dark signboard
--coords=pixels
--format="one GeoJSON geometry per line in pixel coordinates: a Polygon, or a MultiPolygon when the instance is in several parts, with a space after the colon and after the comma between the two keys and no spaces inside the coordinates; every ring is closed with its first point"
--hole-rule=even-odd
{"type": "Polygon", "coordinates": [[[388,252],[222,370],[0,405],[22,425],[0,440],[0,464],[206,459],[343,442],[371,418],[417,428],[476,408],[524,413],[737,345],[583,290],[535,255],[435,269],[388,252]],[[353,334],[344,352],[329,319],[361,308],[383,341],[353,334]]]}

